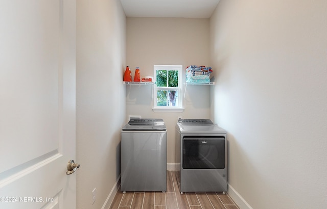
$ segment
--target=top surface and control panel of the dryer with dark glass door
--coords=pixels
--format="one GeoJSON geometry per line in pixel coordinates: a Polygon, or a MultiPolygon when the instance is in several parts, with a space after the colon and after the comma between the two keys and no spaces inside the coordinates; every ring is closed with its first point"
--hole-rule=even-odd
{"type": "Polygon", "coordinates": [[[177,126],[181,133],[227,133],[209,119],[179,119],[177,126]]]}

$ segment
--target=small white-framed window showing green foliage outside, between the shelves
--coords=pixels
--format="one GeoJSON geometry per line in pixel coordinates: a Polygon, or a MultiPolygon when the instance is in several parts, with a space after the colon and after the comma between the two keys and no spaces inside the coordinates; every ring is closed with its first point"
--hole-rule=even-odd
{"type": "Polygon", "coordinates": [[[154,65],[153,111],[182,111],[181,65],[154,65]]]}

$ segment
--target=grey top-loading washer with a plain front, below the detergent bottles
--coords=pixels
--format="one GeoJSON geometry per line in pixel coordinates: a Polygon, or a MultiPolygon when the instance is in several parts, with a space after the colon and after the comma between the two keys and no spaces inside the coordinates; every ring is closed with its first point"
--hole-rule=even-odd
{"type": "Polygon", "coordinates": [[[167,130],[162,119],[132,118],[121,132],[121,191],[167,190],[167,130]]]}

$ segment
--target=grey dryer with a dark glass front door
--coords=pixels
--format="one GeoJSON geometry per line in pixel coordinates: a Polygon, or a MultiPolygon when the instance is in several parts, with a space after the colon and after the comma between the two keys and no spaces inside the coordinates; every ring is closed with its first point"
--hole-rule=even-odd
{"type": "Polygon", "coordinates": [[[179,119],[176,156],[181,194],[227,191],[226,130],[209,119],[179,119]]]}

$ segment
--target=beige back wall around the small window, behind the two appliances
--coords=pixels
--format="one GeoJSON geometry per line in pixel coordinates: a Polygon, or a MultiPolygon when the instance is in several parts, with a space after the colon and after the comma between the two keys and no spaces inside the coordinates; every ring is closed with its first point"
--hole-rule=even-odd
{"type": "MultiPolygon", "coordinates": [[[[187,18],[127,18],[127,65],[134,77],[153,76],[153,65],[209,65],[209,20],[187,18]]],[[[184,80],[185,81],[185,80],[184,80]]],[[[179,113],[153,112],[151,86],[126,86],[126,122],[128,115],[162,118],[168,133],[169,164],[175,159],[175,125],[183,118],[210,118],[210,87],[188,87],[179,113]]]]}

